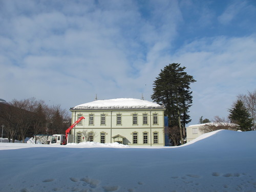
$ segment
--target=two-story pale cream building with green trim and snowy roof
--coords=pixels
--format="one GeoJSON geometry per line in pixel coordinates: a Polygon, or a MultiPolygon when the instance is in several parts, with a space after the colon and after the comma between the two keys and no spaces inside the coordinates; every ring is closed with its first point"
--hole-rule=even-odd
{"type": "Polygon", "coordinates": [[[71,130],[68,142],[164,146],[164,110],[157,103],[131,98],[80,104],[70,109],[72,123],[85,119],[71,130]]]}

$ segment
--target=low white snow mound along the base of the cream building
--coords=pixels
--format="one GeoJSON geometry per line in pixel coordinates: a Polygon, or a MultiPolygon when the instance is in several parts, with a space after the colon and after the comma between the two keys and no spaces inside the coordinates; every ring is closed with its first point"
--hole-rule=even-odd
{"type": "Polygon", "coordinates": [[[128,145],[115,143],[98,143],[98,142],[81,142],[81,143],[68,143],[67,146],[76,146],[76,147],[130,147],[128,145]]]}

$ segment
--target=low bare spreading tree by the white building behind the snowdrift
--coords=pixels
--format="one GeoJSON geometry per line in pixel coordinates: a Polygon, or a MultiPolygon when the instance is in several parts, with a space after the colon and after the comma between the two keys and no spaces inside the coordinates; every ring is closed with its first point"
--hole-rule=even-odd
{"type": "Polygon", "coordinates": [[[238,131],[238,125],[230,123],[227,119],[215,116],[210,123],[205,123],[199,128],[200,132],[209,133],[216,130],[233,130],[238,131]]]}

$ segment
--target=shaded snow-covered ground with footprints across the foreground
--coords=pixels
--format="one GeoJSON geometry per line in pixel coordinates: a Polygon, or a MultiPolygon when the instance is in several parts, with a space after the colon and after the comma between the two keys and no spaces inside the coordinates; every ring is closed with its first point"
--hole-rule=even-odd
{"type": "Polygon", "coordinates": [[[0,143],[0,191],[256,191],[256,131],[179,147],[0,143]]]}

